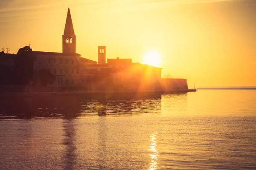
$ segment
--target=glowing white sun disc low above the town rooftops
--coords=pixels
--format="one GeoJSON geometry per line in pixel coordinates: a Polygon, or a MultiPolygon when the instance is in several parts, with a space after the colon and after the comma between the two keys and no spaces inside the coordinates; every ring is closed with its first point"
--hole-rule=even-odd
{"type": "Polygon", "coordinates": [[[155,67],[159,67],[161,64],[161,55],[157,51],[147,51],[143,58],[144,64],[153,65],[155,67]]]}

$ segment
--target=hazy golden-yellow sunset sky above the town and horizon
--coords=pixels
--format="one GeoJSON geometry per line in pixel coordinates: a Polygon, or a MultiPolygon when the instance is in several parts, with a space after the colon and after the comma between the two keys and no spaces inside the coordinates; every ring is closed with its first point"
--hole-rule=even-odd
{"type": "Polygon", "coordinates": [[[256,86],[256,0],[0,0],[0,46],[62,52],[68,8],[84,58],[157,54],[189,86],[256,86]]]}

